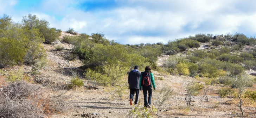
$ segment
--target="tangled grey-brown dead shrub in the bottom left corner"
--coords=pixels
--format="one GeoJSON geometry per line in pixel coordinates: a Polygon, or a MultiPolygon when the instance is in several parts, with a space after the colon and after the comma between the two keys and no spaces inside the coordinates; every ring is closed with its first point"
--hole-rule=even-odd
{"type": "Polygon", "coordinates": [[[63,93],[47,95],[39,85],[18,81],[0,85],[0,118],[44,118],[68,110],[63,93]],[[46,96],[47,95],[47,96],[46,96]]]}

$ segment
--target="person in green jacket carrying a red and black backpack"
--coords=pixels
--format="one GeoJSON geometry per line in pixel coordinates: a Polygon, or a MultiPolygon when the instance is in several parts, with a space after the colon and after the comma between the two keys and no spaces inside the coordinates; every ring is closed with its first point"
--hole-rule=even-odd
{"type": "Polygon", "coordinates": [[[151,99],[152,99],[152,84],[155,90],[155,81],[153,73],[151,72],[151,68],[147,66],[144,72],[141,72],[140,77],[140,90],[143,90],[144,95],[144,106],[151,108],[151,99]],[[148,92],[148,98],[147,98],[148,92]]]}

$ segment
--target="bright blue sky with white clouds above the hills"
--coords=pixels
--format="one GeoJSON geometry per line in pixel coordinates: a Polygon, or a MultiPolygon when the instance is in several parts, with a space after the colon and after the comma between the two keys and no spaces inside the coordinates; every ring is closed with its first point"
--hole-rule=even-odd
{"type": "Polygon", "coordinates": [[[256,0],[0,0],[0,16],[27,14],[50,27],[105,34],[121,44],[174,41],[198,33],[256,36],[256,0]]]}

